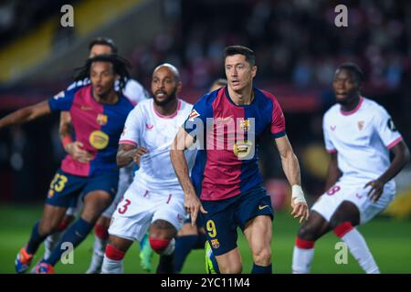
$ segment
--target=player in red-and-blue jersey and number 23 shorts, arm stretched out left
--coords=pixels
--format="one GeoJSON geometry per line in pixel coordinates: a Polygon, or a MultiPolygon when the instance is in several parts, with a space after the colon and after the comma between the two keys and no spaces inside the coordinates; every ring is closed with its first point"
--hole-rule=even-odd
{"type": "Polygon", "coordinates": [[[116,55],[90,58],[80,68],[77,79],[89,77],[91,85],[62,91],[0,120],[1,129],[54,111],[69,110],[76,141],[80,141],[92,157],[90,162],[78,162],[67,155],[61,163],[50,183],[43,216],[16,257],[17,273],[26,272],[38,246],[47,235],[57,231],[68,206],[80,195],[84,208],[79,220],[68,228],[51,255],[37,265],[37,273],[53,273],[53,266],[67,248],[66,244],[75,247],[82,242],[117,192],[116,149],[127,114],[132,110],[132,103],[121,95],[129,77],[128,66],[127,61],[116,55]],[[114,89],[116,79],[120,80],[119,92],[114,89]]]}

